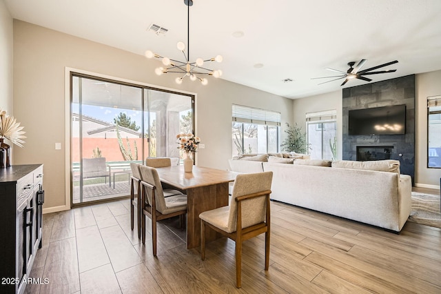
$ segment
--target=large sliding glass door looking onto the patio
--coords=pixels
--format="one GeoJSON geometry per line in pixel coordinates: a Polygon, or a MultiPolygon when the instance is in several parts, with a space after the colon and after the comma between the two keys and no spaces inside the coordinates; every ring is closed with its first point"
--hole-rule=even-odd
{"type": "Polygon", "coordinates": [[[176,157],[194,130],[194,97],[71,75],[72,206],[130,195],[130,163],[176,157]]]}

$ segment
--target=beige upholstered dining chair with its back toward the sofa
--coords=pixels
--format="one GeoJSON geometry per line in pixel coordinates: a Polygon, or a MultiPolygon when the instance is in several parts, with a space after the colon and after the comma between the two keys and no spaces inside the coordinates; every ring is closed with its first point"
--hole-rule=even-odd
{"type": "Polygon", "coordinates": [[[201,259],[205,259],[206,228],[236,242],[236,287],[241,286],[242,242],[265,233],[265,271],[269,266],[269,225],[272,172],[240,174],[229,206],[207,210],[201,218],[201,259]]]}

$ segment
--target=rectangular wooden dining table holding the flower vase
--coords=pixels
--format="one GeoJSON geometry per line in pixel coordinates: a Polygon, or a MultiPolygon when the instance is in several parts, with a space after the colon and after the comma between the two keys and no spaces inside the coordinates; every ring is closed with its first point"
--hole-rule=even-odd
{"type": "MultiPolygon", "coordinates": [[[[187,194],[187,249],[201,245],[201,219],[199,214],[228,205],[229,182],[238,173],[216,168],[193,166],[192,173],[185,173],[183,166],[156,168],[161,182],[187,194]]],[[[207,241],[220,235],[207,231],[207,241]]]]}

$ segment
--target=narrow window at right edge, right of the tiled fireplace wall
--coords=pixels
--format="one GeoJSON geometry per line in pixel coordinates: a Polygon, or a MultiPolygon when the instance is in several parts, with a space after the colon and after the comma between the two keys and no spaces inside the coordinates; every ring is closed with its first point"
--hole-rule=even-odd
{"type": "Polygon", "coordinates": [[[427,167],[441,168],[441,96],[427,99],[427,167]]]}

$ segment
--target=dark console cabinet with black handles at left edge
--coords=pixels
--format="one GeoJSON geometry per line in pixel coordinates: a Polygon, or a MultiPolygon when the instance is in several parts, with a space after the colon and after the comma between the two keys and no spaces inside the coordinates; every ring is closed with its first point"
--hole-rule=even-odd
{"type": "Polygon", "coordinates": [[[41,248],[43,165],[0,168],[0,293],[23,293],[41,248]]]}

